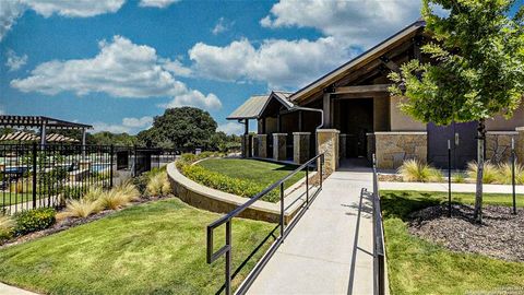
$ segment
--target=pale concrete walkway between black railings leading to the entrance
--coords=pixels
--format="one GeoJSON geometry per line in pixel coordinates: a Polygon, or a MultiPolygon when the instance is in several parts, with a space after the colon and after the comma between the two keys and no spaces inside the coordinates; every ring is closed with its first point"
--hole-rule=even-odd
{"type": "MultiPolygon", "coordinates": [[[[362,187],[372,188],[370,170],[332,174],[248,293],[348,294],[362,187]]],[[[370,202],[362,206],[353,294],[372,294],[370,202]]]]}

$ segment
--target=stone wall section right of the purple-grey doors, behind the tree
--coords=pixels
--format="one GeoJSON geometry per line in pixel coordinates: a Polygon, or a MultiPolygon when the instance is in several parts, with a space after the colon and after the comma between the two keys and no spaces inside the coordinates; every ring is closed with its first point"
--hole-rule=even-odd
{"type": "Polygon", "coordinates": [[[492,163],[511,161],[511,139],[519,142],[517,131],[488,131],[486,133],[486,158],[492,163]]]}

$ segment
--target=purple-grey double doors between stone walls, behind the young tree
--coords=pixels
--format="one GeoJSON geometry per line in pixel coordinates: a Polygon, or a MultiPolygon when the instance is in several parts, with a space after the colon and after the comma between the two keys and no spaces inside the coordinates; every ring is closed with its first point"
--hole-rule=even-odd
{"type": "Polygon", "coordinates": [[[451,143],[451,168],[464,169],[477,158],[477,122],[436,126],[428,123],[428,162],[448,168],[448,140],[451,143]]]}

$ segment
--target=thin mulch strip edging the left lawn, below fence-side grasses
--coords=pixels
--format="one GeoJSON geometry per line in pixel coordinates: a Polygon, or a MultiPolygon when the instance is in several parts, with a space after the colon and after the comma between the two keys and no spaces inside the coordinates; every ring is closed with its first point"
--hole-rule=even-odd
{"type": "MultiPolygon", "coordinates": [[[[147,197],[147,198],[143,198],[143,199],[140,199],[138,201],[132,202],[131,205],[138,205],[138,204],[142,204],[142,203],[158,201],[158,200],[166,199],[166,198],[171,198],[171,197],[172,196],[147,197]]],[[[105,217],[109,214],[118,212],[120,210],[122,210],[122,209],[119,209],[119,210],[104,210],[104,211],[98,212],[96,214],[90,215],[85,219],[76,219],[76,217],[63,219],[63,220],[57,221],[49,228],[46,228],[46,229],[43,229],[43,231],[39,231],[39,232],[35,232],[35,233],[31,233],[31,234],[27,234],[27,235],[24,235],[24,236],[12,238],[10,240],[4,241],[3,244],[1,244],[1,241],[0,241],[0,249],[11,247],[11,246],[15,246],[15,245],[26,243],[26,241],[29,241],[29,240],[34,240],[34,239],[37,239],[37,238],[40,238],[40,237],[49,236],[49,235],[52,235],[55,233],[59,233],[59,232],[62,232],[62,231],[66,231],[66,229],[69,229],[71,227],[75,227],[75,226],[79,226],[79,225],[82,225],[82,224],[94,222],[94,221],[103,219],[103,217],[105,217]]]]}

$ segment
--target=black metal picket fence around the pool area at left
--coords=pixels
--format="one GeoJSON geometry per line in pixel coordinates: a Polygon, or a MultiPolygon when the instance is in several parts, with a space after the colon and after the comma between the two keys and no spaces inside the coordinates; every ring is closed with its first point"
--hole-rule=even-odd
{"type": "Polygon", "coordinates": [[[81,144],[0,144],[0,214],[60,206],[175,161],[176,150],[81,144]]]}

